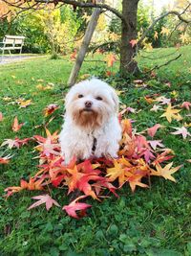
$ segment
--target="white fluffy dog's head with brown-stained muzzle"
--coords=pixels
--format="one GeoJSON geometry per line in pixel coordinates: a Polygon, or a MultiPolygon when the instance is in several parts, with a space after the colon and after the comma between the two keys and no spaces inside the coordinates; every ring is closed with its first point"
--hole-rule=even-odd
{"type": "Polygon", "coordinates": [[[102,126],[118,110],[116,91],[97,79],[75,84],[67,94],[65,103],[67,115],[83,128],[102,126]]]}

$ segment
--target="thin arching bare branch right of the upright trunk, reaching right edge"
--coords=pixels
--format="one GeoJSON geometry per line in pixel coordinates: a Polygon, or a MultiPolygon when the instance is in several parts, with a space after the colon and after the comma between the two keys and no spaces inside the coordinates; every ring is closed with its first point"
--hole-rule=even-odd
{"type": "Polygon", "coordinates": [[[140,43],[144,40],[144,38],[146,37],[146,35],[149,33],[150,30],[152,30],[154,28],[154,26],[159,22],[160,19],[168,16],[168,15],[177,15],[179,17],[179,19],[182,21],[182,22],[185,22],[185,23],[190,23],[191,20],[187,20],[185,18],[183,18],[181,15],[186,12],[186,10],[191,6],[191,4],[189,4],[183,12],[177,12],[177,11],[170,11],[170,12],[165,12],[164,14],[160,15],[157,19],[154,20],[154,22],[148,27],[148,29],[141,35],[141,37],[139,38],[138,40],[138,46],[140,45],[140,43]]]}

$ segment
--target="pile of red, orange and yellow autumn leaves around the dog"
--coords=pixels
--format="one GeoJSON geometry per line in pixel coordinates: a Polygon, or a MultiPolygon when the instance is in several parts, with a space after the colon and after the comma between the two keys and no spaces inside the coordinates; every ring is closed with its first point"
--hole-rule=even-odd
{"type": "MultiPolygon", "coordinates": [[[[149,101],[149,99],[145,99],[149,101]]],[[[53,105],[51,105],[53,110],[53,105]]],[[[169,122],[172,118],[179,118],[179,111],[173,110],[171,105],[168,105],[163,117],[166,117],[169,122]],[[170,118],[170,120],[169,120],[170,118]]],[[[56,109],[56,106],[55,106],[56,109]]],[[[164,145],[159,140],[147,140],[142,134],[146,132],[151,138],[159,128],[159,124],[153,128],[148,128],[144,132],[137,133],[132,128],[132,121],[122,119],[122,114],[128,108],[120,113],[119,122],[122,127],[122,139],[120,141],[120,150],[118,151],[117,159],[88,159],[81,163],[76,163],[75,159],[68,166],[65,166],[63,158],[60,156],[60,146],[58,144],[58,134],[51,132],[46,128],[46,137],[34,135],[32,138],[19,140],[6,140],[2,146],[8,145],[9,148],[20,148],[27,144],[29,140],[35,140],[37,146],[35,151],[39,152],[39,170],[29,178],[29,180],[20,180],[20,186],[7,188],[6,197],[10,197],[13,193],[22,190],[39,190],[44,191],[41,196],[33,197],[36,199],[29,209],[32,209],[40,204],[45,203],[46,209],[49,210],[53,204],[60,207],[48,194],[53,188],[66,188],[70,198],[74,198],[68,205],[63,206],[63,210],[73,218],[78,219],[86,215],[86,209],[91,207],[84,201],[84,198],[94,198],[101,200],[107,198],[109,194],[117,196],[117,190],[124,185],[129,184],[132,192],[136,187],[148,188],[150,185],[151,176],[162,176],[165,179],[175,181],[172,176],[180,169],[173,168],[173,163],[166,163],[173,155],[170,149],[164,149],[164,145]],[[143,179],[144,178],[144,179],[143,179]],[[144,181],[143,181],[144,180],[144,181]],[[83,199],[83,201],[80,201],[83,199]]],[[[133,108],[128,110],[133,111],[133,108]]],[[[24,124],[19,124],[17,118],[14,119],[12,129],[20,129],[24,124]]],[[[176,134],[176,132],[174,132],[176,134]]],[[[180,134],[180,133],[177,133],[180,134]]],[[[190,134],[189,134],[190,135],[190,134]]],[[[0,163],[6,164],[9,162],[9,157],[0,157],[0,163]]]]}

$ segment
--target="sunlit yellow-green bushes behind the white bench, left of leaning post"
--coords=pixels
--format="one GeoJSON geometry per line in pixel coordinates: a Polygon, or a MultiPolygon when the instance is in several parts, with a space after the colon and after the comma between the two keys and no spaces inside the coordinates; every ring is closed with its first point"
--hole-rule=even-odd
{"type": "Polygon", "coordinates": [[[81,20],[76,13],[64,6],[60,9],[23,12],[8,23],[1,20],[0,37],[4,35],[26,36],[23,52],[66,54],[74,48],[74,36],[81,20]]]}

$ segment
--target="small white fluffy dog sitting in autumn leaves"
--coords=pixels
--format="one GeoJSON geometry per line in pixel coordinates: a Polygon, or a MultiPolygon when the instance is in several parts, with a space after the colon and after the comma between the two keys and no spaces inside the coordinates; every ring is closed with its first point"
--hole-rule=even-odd
{"type": "Polygon", "coordinates": [[[121,128],[118,97],[104,81],[80,81],[68,92],[59,141],[65,163],[90,157],[117,157],[121,128]]]}

